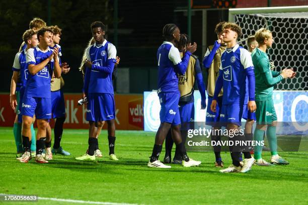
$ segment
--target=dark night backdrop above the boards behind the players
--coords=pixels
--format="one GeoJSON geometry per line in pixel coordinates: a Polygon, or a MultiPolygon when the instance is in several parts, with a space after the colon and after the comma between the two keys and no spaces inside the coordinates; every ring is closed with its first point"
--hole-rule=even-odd
{"type": "MultiPolygon", "coordinates": [[[[48,22],[48,1],[0,1],[0,60],[2,76],[0,92],[9,92],[12,65],[15,54],[22,43],[22,34],[29,29],[29,22],[39,17],[48,22]]],[[[211,1],[210,1],[211,2],[211,1]]],[[[81,92],[82,76],[78,67],[88,41],[92,37],[90,24],[102,21],[107,26],[107,39],[113,43],[113,1],[50,1],[51,25],[62,29],[60,45],[62,61],[71,70],[63,75],[64,92],[81,92]]],[[[175,12],[186,9],[187,1],[118,1],[118,45],[121,68],[129,68],[129,92],[141,93],[157,89],[156,52],[163,41],[162,29],[165,24],[175,23],[181,33],[187,33],[187,13],[175,12]]],[[[208,15],[209,42],[215,40],[214,25],[221,19],[219,13],[208,15]]],[[[201,56],[202,16],[201,12],[192,13],[192,40],[200,47],[196,55],[201,56]]],[[[227,18],[227,15],[225,15],[227,18]]],[[[204,54],[203,54],[204,55],[204,54]]],[[[121,83],[118,79],[116,84],[121,83]]],[[[115,86],[116,89],[117,86],[115,86]]],[[[117,91],[117,90],[116,90],[117,91]]]]}

